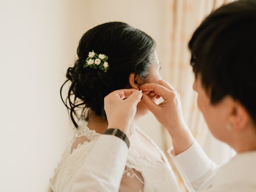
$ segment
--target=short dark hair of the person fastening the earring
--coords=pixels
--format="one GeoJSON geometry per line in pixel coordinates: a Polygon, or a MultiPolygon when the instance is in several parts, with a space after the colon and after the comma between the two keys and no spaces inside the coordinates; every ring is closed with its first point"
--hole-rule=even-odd
{"type": "Polygon", "coordinates": [[[212,12],[189,44],[191,65],[211,103],[238,100],[256,124],[256,1],[240,0],[212,12]]]}

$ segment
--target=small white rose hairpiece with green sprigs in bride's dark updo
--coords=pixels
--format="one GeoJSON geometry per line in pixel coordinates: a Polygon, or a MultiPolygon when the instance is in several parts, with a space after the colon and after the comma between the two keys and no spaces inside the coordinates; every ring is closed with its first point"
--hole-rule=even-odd
{"type": "Polygon", "coordinates": [[[93,69],[99,69],[104,72],[107,72],[109,69],[107,60],[108,60],[108,56],[106,56],[105,54],[98,55],[92,50],[92,52],[89,52],[83,67],[84,68],[90,67],[93,69]]]}

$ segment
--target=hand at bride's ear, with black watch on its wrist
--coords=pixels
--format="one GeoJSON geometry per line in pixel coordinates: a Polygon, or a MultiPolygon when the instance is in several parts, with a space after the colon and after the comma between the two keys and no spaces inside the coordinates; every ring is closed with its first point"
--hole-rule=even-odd
{"type": "Polygon", "coordinates": [[[142,93],[135,89],[116,90],[108,94],[104,98],[108,128],[118,128],[129,137],[130,127],[141,97],[142,93]]]}

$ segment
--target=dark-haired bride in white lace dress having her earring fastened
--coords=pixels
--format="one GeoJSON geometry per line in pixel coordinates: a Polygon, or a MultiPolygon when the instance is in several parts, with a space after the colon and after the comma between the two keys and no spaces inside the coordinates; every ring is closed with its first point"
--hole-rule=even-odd
{"type": "MultiPolygon", "coordinates": [[[[50,179],[54,192],[67,189],[96,140],[107,129],[104,97],[114,90],[138,89],[142,84],[161,79],[154,40],[126,23],[109,22],[88,30],[80,39],[77,55],[62,85],[63,88],[70,83],[68,96],[62,101],[70,110],[75,128],[50,179]]],[[[154,92],[148,96],[154,102],[159,99],[154,92]]],[[[144,104],[139,103],[135,119],[147,112],[144,104]]],[[[166,156],[140,130],[136,120],[129,137],[130,148],[119,191],[179,191],[166,156]]]]}

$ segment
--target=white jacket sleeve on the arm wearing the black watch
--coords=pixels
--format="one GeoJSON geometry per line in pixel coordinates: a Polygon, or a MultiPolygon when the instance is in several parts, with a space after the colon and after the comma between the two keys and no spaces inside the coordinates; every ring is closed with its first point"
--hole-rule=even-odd
{"type": "Polygon", "coordinates": [[[67,192],[118,192],[128,148],[120,138],[101,135],[67,192]]]}

